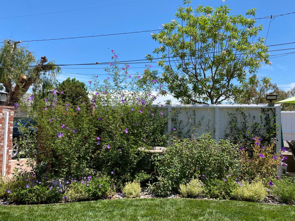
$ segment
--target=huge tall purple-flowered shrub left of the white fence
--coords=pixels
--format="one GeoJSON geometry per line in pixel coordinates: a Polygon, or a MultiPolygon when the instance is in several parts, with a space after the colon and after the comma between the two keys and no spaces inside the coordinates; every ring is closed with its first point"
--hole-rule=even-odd
{"type": "Polygon", "coordinates": [[[38,105],[31,116],[36,116],[38,124],[38,151],[32,159],[40,168],[38,175],[49,170],[58,177],[79,176],[91,169],[111,175],[122,185],[147,164],[142,147],[166,146],[167,120],[163,111],[152,107],[156,97],[151,80],[143,85],[139,76],[128,74],[129,65],[119,69],[114,55],[105,69],[109,77],[94,76],[88,82],[94,111],[86,102],[35,100],[38,105]]]}

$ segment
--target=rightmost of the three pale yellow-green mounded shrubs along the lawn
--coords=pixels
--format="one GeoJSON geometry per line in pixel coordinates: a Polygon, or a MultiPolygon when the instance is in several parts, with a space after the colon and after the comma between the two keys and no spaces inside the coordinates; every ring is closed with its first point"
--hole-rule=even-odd
{"type": "Polygon", "coordinates": [[[254,181],[253,183],[242,181],[236,185],[233,196],[237,200],[258,202],[264,200],[267,195],[266,187],[262,181],[254,181]]]}

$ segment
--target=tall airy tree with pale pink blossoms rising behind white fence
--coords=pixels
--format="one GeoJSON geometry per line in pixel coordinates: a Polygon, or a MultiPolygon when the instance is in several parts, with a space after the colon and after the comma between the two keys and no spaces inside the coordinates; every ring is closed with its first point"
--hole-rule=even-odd
{"type": "MultiPolygon", "coordinates": [[[[235,102],[251,85],[251,76],[263,63],[269,62],[264,38],[258,38],[262,26],[256,26],[255,10],[243,15],[230,15],[227,5],[193,9],[178,7],[176,18],[162,24],[152,38],[160,46],[147,60],[157,59],[164,73],[146,71],[149,79],[157,79],[174,98],[185,104],[218,104],[235,102]]],[[[162,90],[164,88],[164,90],[162,90]]]]}

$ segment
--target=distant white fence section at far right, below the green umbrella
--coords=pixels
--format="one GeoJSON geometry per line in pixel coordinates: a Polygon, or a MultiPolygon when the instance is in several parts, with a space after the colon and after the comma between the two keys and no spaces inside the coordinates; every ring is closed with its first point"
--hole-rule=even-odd
{"type": "Polygon", "coordinates": [[[281,112],[283,140],[295,140],[295,111],[281,112]]]}

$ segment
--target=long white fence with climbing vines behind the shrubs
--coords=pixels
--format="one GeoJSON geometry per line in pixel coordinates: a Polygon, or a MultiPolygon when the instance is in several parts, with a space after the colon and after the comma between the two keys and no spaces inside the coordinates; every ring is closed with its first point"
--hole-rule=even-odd
{"type": "MultiPolygon", "coordinates": [[[[173,128],[177,128],[181,130],[184,134],[202,134],[206,132],[214,132],[212,136],[216,141],[219,139],[225,138],[226,133],[230,133],[228,123],[231,118],[229,113],[235,114],[236,116],[236,124],[240,128],[241,124],[244,121],[238,109],[245,111],[245,113],[250,114],[251,117],[248,117],[246,121],[249,121],[249,124],[252,125],[255,123],[263,123],[260,122],[260,114],[263,115],[262,110],[269,109],[269,116],[273,117],[277,115],[276,119],[271,122],[274,123],[276,121],[277,124],[281,122],[281,106],[275,105],[273,107],[269,107],[266,104],[250,104],[250,105],[230,105],[230,104],[221,104],[221,105],[165,105],[163,107],[154,105],[154,108],[161,109],[161,111],[167,116],[167,114],[171,117],[168,117],[168,125],[166,128],[167,132],[173,132],[173,128]],[[272,113],[272,111],[273,113],[272,113]],[[173,117],[173,113],[177,113],[173,117]],[[198,131],[193,130],[198,126],[198,131]]],[[[231,114],[231,115],[232,115],[231,114]]],[[[263,121],[264,121],[264,116],[263,121]]],[[[291,122],[291,121],[290,121],[291,122]]],[[[294,111],[294,122],[295,122],[295,111],[294,111]]],[[[295,124],[294,124],[295,131],[295,124]]],[[[277,131],[277,151],[281,149],[281,130],[277,131]]],[[[295,136],[295,132],[294,132],[295,136]]]]}

